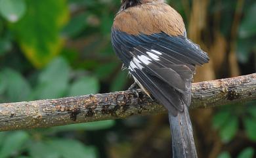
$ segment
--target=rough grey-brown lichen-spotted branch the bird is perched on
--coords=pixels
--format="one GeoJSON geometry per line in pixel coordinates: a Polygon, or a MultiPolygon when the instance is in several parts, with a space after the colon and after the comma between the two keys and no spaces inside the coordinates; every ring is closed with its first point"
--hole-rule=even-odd
{"type": "MultiPolygon", "coordinates": [[[[256,73],[194,83],[190,108],[256,100],[256,73]]],[[[142,90],[0,104],[0,131],[53,127],[166,112],[142,90]]]]}

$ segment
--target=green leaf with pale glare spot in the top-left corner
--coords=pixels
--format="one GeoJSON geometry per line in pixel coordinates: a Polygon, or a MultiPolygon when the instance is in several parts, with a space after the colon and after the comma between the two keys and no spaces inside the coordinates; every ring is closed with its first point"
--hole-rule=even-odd
{"type": "Polygon", "coordinates": [[[9,22],[17,22],[26,11],[24,0],[0,0],[0,14],[9,22]]]}

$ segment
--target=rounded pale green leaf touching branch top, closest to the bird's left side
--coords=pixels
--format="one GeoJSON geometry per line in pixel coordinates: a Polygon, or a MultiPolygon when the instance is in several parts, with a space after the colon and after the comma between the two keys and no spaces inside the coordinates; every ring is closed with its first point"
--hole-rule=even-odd
{"type": "Polygon", "coordinates": [[[72,84],[69,96],[96,94],[99,89],[98,79],[89,76],[81,77],[72,84]]]}

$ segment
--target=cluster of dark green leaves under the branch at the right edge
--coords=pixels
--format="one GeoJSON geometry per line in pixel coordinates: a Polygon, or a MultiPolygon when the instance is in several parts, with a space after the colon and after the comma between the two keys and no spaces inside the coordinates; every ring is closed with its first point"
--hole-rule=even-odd
{"type": "Polygon", "coordinates": [[[249,140],[256,142],[256,102],[244,106],[232,105],[220,109],[213,117],[213,128],[219,131],[224,143],[234,139],[239,130],[239,120],[244,123],[244,130],[249,140]],[[239,108],[238,108],[239,107],[239,108]]]}

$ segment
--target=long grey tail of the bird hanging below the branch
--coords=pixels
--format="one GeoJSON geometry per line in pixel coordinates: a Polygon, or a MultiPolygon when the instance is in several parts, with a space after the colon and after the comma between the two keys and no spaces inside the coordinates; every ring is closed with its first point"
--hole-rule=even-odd
{"type": "Polygon", "coordinates": [[[188,107],[184,106],[184,111],[179,111],[176,117],[171,113],[168,115],[173,138],[173,158],[197,158],[188,107]]]}

